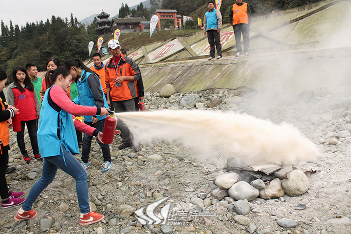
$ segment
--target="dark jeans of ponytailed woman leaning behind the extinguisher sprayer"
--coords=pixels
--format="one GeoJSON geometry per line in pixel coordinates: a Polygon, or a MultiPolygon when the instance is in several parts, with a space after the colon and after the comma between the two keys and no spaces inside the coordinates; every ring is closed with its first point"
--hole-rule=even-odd
{"type": "MultiPolygon", "coordinates": [[[[96,128],[100,132],[104,129],[105,125],[105,119],[99,120],[96,123],[91,123],[84,121],[85,124],[96,128]]],[[[83,147],[82,147],[82,161],[87,163],[89,161],[89,153],[90,153],[90,148],[91,148],[91,140],[93,139],[92,136],[89,136],[88,134],[84,133],[83,136],[83,147]]],[[[99,143],[101,150],[102,150],[102,155],[104,157],[104,162],[112,162],[111,161],[111,154],[110,154],[110,147],[108,144],[104,144],[101,141],[99,141],[97,138],[97,143],[99,143]]]]}

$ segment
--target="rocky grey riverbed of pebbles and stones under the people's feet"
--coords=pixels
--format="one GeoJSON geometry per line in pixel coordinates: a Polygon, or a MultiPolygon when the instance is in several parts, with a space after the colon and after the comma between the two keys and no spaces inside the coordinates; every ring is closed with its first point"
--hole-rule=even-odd
{"type": "MultiPolygon", "coordinates": [[[[293,125],[320,152],[320,157],[313,162],[289,164],[294,169],[314,168],[315,173],[311,173],[307,179],[307,192],[301,195],[289,193],[294,196],[284,193],[271,199],[251,197],[253,199],[236,200],[232,197],[237,194],[232,188],[228,194],[226,187],[229,186],[228,180],[237,178],[235,175],[223,175],[227,172],[223,169],[227,159],[220,154],[214,152],[213,157],[199,160],[201,155],[198,151],[185,147],[181,141],[168,139],[142,143],[138,152],[133,148],[118,150],[121,138],[115,136],[110,145],[113,162],[111,170],[101,172],[102,154],[95,141],[90,155],[91,166],[87,169],[91,208],[105,215],[102,222],[88,226],[78,224],[75,181],[58,170],[55,180],[34,204],[37,217],[19,223],[13,219],[19,207],[2,209],[0,231],[351,233],[351,162],[348,158],[351,150],[351,93],[329,94],[327,88],[321,87],[319,92],[306,91],[293,95],[242,87],[237,90],[211,89],[179,94],[174,93],[171,87],[168,88],[145,94],[147,111],[234,111],[275,124],[286,122],[293,125]],[[220,183],[221,177],[227,178],[220,183]],[[162,217],[161,208],[169,204],[167,222],[162,223],[161,220],[157,224],[142,225],[142,220],[137,219],[134,211],[155,204],[156,201],[159,204],[153,213],[158,214],[159,218],[162,217]]],[[[34,155],[30,154],[31,163],[25,163],[17,146],[16,134],[12,131],[10,141],[10,165],[16,167],[15,172],[7,174],[10,190],[24,191],[27,195],[41,176],[42,161],[35,160],[34,155]]],[[[30,148],[28,134],[26,142],[30,148]]],[[[76,157],[80,159],[80,155],[76,157]]],[[[271,184],[279,185],[282,181],[266,184],[256,182],[254,187],[262,190],[271,184]]]]}

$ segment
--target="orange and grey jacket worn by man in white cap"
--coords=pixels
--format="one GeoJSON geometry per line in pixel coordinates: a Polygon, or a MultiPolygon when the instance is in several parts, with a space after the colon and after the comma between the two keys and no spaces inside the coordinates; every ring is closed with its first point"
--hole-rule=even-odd
{"type": "Polygon", "coordinates": [[[137,69],[135,62],[128,58],[123,57],[118,62],[117,68],[112,62],[113,57],[106,65],[106,88],[110,88],[110,97],[112,101],[125,101],[137,97],[135,81],[140,78],[140,70],[137,69]],[[117,76],[133,76],[134,81],[124,80],[120,87],[116,87],[115,78],[117,76]]]}

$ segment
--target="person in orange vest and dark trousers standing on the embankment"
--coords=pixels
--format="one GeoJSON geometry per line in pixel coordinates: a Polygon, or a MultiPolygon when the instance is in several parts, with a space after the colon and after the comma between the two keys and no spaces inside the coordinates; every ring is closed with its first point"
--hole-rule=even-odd
{"type": "Polygon", "coordinates": [[[244,54],[249,54],[250,46],[250,24],[251,24],[251,10],[247,3],[243,3],[243,0],[236,0],[229,13],[229,19],[232,21],[235,45],[237,48],[236,57],[242,55],[241,49],[241,34],[243,35],[244,41],[244,54]]]}

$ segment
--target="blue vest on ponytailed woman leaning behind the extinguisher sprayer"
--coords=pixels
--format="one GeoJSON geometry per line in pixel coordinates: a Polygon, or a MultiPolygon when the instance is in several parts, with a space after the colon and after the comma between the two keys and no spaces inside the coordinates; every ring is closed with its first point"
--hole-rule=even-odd
{"type": "MultiPolygon", "coordinates": [[[[78,89],[78,96],[77,96],[78,102],[77,103],[79,105],[82,105],[82,106],[96,106],[96,103],[94,101],[94,95],[91,92],[91,89],[89,88],[89,85],[88,85],[88,76],[90,76],[91,74],[94,74],[94,73],[86,72],[83,69],[81,77],[84,76],[84,78],[81,79],[80,81],[79,80],[77,81],[77,89],[78,89]],[[84,74],[85,74],[85,76],[84,76],[84,74]]],[[[107,101],[106,101],[106,98],[105,98],[105,95],[104,95],[104,92],[102,91],[102,86],[101,86],[101,83],[100,83],[100,79],[98,77],[96,77],[96,79],[99,80],[101,93],[102,93],[102,96],[104,98],[104,103],[105,103],[104,107],[109,109],[107,101]]],[[[84,121],[92,123],[93,122],[91,120],[92,117],[93,116],[84,115],[84,121]]],[[[106,116],[102,116],[101,117],[100,115],[99,116],[94,116],[94,117],[97,117],[98,121],[106,118],[106,116]]]]}

